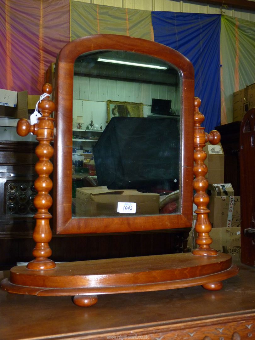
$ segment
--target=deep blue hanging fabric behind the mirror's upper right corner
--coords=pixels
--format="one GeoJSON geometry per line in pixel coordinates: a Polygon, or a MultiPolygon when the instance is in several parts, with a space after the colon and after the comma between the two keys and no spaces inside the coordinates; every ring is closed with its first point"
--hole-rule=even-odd
{"type": "Polygon", "coordinates": [[[195,96],[206,132],[220,125],[220,25],[221,15],[152,12],[154,39],[184,54],[195,71],[195,96]]]}

